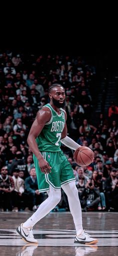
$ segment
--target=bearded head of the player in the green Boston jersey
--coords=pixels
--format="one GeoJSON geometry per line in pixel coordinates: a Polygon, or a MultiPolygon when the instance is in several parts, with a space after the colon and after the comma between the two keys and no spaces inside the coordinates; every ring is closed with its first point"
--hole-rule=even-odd
{"type": "Polygon", "coordinates": [[[50,100],[57,108],[63,108],[65,105],[65,91],[63,87],[55,87],[49,94],[50,100]]]}

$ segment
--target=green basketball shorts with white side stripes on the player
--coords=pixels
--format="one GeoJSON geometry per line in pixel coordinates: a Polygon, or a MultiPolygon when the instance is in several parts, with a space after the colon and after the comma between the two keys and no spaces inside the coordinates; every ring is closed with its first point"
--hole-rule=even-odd
{"type": "Polygon", "coordinates": [[[49,174],[41,172],[38,160],[33,155],[39,192],[49,190],[49,185],[54,189],[60,189],[61,185],[75,180],[72,167],[62,151],[41,152],[41,154],[51,166],[51,172],[49,174]]]}

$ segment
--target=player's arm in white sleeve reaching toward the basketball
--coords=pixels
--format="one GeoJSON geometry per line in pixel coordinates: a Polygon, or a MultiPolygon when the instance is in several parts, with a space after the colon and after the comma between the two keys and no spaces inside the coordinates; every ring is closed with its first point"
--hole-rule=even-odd
{"type": "MultiPolygon", "coordinates": [[[[67,115],[66,115],[66,112],[64,111],[64,114],[65,114],[65,121],[67,119],[67,115]]],[[[69,138],[67,136],[67,126],[66,126],[66,123],[64,125],[64,128],[63,128],[63,131],[61,133],[61,140],[60,142],[62,144],[64,144],[66,147],[68,148],[71,148],[73,150],[76,150],[78,147],[81,147],[79,144],[77,144],[74,140],[72,140],[71,138],[69,138]]]]}

